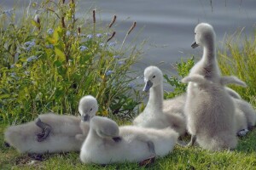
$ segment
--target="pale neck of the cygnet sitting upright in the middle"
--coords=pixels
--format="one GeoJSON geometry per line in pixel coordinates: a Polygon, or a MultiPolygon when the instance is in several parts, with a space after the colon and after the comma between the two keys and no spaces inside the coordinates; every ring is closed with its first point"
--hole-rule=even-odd
{"type": "Polygon", "coordinates": [[[149,90],[149,99],[147,108],[153,111],[162,111],[163,109],[163,85],[159,84],[149,90]]]}

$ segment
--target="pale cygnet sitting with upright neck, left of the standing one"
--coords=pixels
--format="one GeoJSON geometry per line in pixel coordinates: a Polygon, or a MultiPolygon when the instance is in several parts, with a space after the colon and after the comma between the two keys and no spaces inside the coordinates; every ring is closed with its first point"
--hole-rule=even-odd
{"type": "Polygon", "coordinates": [[[148,92],[148,104],[137,116],[133,124],[137,127],[165,128],[172,127],[180,135],[186,132],[185,118],[179,114],[163,112],[163,75],[156,66],[148,66],[144,71],[146,82],[143,91],[148,92]]]}

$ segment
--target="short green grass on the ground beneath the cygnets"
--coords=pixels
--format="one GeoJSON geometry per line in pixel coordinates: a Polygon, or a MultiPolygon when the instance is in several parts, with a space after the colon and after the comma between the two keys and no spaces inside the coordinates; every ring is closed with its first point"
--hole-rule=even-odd
{"type": "MultiPolygon", "coordinates": [[[[0,126],[3,134],[7,125],[0,126]]],[[[212,152],[199,147],[185,148],[176,145],[172,153],[158,158],[147,167],[137,163],[120,163],[108,166],[84,165],[79,153],[45,154],[44,161],[33,161],[27,154],[19,154],[3,144],[0,137],[0,169],[256,169],[256,129],[239,139],[236,150],[212,152]],[[33,163],[32,163],[33,162],[33,163]]]]}

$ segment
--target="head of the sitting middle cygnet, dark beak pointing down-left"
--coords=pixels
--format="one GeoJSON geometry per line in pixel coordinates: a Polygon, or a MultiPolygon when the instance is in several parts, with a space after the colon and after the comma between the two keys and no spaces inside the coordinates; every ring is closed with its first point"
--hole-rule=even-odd
{"type": "Polygon", "coordinates": [[[162,71],[156,66],[148,66],[144,71],[144,92],[148,92],[150,88],[154,88],[163,82],[162,71]]]}

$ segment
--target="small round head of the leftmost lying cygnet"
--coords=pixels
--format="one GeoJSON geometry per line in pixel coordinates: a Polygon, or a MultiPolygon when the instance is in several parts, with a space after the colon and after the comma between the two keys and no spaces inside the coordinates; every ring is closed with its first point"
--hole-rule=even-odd
{"type": "Polygon", "coordinates": [[[93,116],[96,116],[98,111],[97,100],[91,96],[86,95],[79,101],[79,113],[83,122],[90,121],[93,116]]]}

